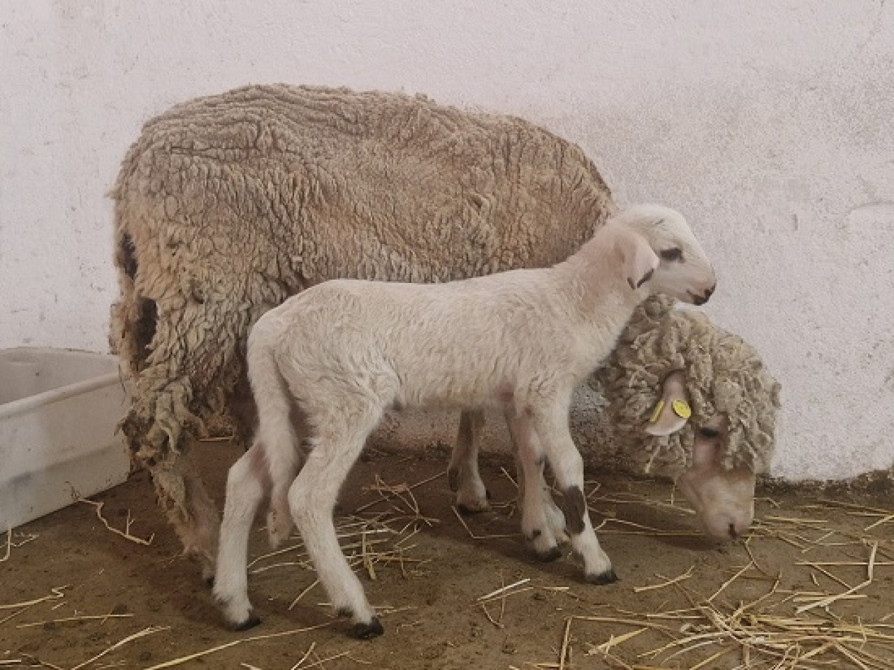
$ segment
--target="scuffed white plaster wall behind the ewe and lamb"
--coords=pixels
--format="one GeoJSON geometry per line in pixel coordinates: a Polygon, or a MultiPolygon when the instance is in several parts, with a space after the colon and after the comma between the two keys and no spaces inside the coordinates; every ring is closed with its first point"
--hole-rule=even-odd
{"type": "Polygon", "coordinates": [[[248,82],[425,91],[683,210],[784,385],[774,472],[894,461],[894,6],[0,0],[0,347],[106,350],[104,193],[149,116],[248,82]]]}

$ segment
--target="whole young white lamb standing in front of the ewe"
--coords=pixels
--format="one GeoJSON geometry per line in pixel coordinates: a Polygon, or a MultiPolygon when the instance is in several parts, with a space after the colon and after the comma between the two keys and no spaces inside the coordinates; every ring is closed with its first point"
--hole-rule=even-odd
{"type": "MultiPolygon", "coordinates": [[[[382,634],[339,547],[333,507],[367,436],[394,406],[501,408],[525,481],[537,484],[544,457],[550,464],[586,581],[615,581],[586,511],[583,462],[569,434],[571,394],[648,295],[702,304],[714,285],[683,216],[638,206],[553,267],[448,284],[334,280],[266,312],[249,335],[257,438],[230,471],[218,552],[215,598],[228,622],[238,629],[259,622],[248,598],[247,544],[269,487],[274,544],[291,530],[291,510],[333,606],[352,619],[350,633],[382,634]],[[303,436],[290,418],[296,406],[310,445],[303,464],[303,436]]],[[[523,510],[522,530],[538,550],[555,547],[561,529],[552,528],[539,495],[525,497],[535,504],[523,510]]]]}

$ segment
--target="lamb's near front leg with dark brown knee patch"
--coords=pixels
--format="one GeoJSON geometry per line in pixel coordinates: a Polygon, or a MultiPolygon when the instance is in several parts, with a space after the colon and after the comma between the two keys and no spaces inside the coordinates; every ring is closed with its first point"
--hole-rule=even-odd
{"type": "Polygon", "coordinates": [[[561,491],[561,506],[568,523],[571,548],[584,561],[586,581],[595,584],[617,581],[618,577],[611,569],[611,560],[599,546],[586,508],[584,461],[569,432],[568,405],[536,412],[533,419],[537,437],[561,491]]]}

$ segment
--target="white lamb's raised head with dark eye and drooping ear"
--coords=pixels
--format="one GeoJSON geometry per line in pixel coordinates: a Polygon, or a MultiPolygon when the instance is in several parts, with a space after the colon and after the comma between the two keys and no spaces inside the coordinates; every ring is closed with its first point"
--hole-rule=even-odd
{"type": "Polygon", "coordinates": [[[647,284],[650,293],[696,305],[708,301],[717,278],[683,215],[658,205],[637,205],[610,219],[607,225],[612,224],[634,233],[619,235],[616,242],[631,288],[647,284]]]}

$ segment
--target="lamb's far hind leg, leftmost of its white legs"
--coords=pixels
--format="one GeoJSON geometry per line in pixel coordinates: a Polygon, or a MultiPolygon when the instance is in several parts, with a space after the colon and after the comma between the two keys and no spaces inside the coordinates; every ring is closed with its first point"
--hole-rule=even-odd
{"type": "Polygon", "coordinates": [[[220,543],[217,548],[215,600],[234,630],[261,623],[249,601],[249,534],[268,483],[264,448],[253,445],[233,463],[226,480],[220,543]]]}

